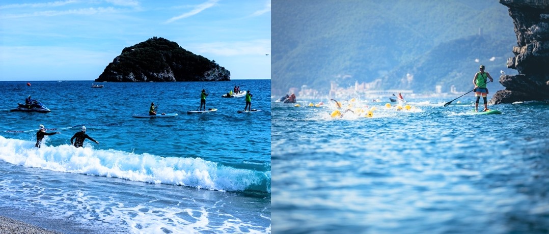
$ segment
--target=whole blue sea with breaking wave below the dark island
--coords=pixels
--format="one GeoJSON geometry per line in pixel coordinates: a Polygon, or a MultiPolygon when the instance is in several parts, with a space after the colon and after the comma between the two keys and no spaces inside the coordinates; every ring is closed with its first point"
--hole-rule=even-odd
{"type": "Polygon", "coordinates": [[[271,231],[270,80],[26,83],[0,82],[0,215],[64,233],[271,231]],[[235,85],[260,112],[221,98],[235,85]],[[219,111],[188,115],[201,89],[219,111]],[[52,111],[10,112],[28,95],[52,111]],[[151,102],[178,115],[132,118],[151,102]],[[60,134],[37,149],[40,124],[60,134]],[[70,145],[81,125],[99,145],[70,145]]]}

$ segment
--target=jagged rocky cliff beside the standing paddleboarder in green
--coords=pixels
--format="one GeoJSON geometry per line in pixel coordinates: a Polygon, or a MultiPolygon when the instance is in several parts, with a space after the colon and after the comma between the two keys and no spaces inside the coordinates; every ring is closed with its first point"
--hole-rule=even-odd
{"type": "Polygon", "coordinates": [[[505,90],[494,94],[492,104],[549,99],[549,0],[500,0],[509,8],[517,35],[514,57],[507,67],[518,75],[500,76],[505,90]]]}

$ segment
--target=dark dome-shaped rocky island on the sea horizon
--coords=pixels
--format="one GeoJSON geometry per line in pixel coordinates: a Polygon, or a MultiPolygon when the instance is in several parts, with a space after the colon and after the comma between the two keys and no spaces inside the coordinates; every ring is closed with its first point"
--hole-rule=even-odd
{"type": "Polygon", "coordinates": [[[126,47],[96,82],[229,81],[231,72],[165,38],[126,47]]]}

